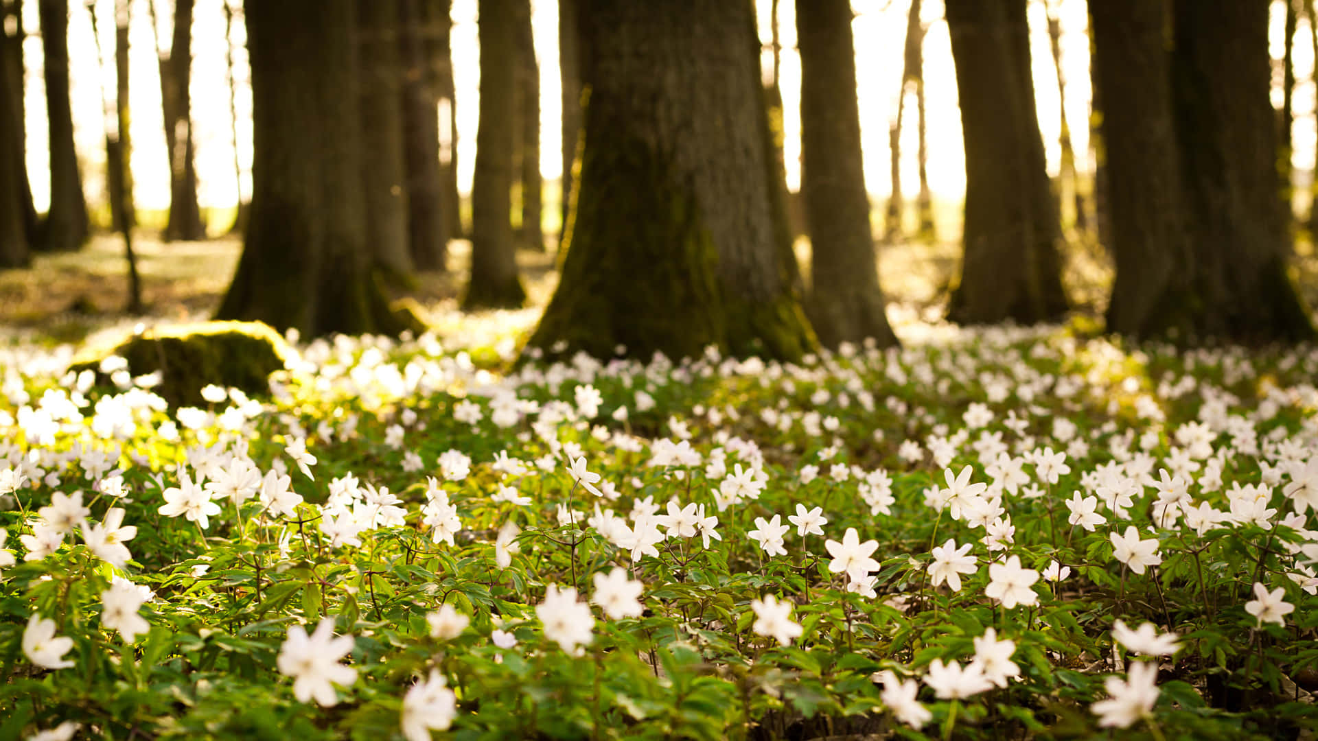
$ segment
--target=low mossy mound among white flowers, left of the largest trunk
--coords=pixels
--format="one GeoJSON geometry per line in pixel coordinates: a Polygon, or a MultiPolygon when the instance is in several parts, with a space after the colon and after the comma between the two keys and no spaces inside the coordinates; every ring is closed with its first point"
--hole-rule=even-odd
{"type": "Polygon", "coordinates": [[[162,380],[153,390],[171,406],[187,406],[204,403],[202,388],[208,384],[268,396],[270,373],[282,370],[293,352],[261,322],[202,322],[152,328],[111,349],[88,349],[71,369],[100,376],[101,360],[115,355],[128,361],[133,376],[159,370],[162,380]]]}

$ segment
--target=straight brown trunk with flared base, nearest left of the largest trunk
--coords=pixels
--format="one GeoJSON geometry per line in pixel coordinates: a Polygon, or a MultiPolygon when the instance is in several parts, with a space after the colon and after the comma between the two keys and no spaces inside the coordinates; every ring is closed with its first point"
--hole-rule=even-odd
{"type": "Polygon", "coordinates": [[[518,136],[517,7],[522,0],[480,0],[481,111],[472,179],[472,274],[463,309],[522,306],[513,240],[513,148],[518,136]]]}

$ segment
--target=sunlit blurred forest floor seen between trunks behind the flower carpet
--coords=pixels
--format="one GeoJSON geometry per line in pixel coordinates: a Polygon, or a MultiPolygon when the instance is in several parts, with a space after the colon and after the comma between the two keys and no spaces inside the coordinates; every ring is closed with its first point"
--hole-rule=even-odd
{"type": "MultiPolygon", "coordinates": [[[[555,237],[550,252],[521,251],[518,262],[530,297],[529,309],[543,307],[558,285],[555,237]]],[[[1111,264],[1093,245],[1073,240],[1065,274],[1072,301],[1081,312],[1101,315],[1111,286],[1111,264]]],[[[145,316],[124,311],[128,301],[123,241],[99,235],[80,252],[40,254],[26,269],[0,272],[0,339],[80,341],[100,330],[148,322],[185,322],[208,318],[219,306],[237,266],[241,240],[236,236],[207,241],[159,241],[138,233],[133,241],[142,280],[145,316]]],[[[809,282],[809,243],[797,240],[796,253],[809,282]]],[[[406,291],[434,315],[455,312],[469,265],[471,243],[449,244],[447,273],[422,274],[406,291]]],[[[1318,306],[1318,253],[1311,244],[1297,245],[1300,285],[1309,306],[1318,306]]],[[[960,245],[954,241],[883,245],[880,281],[891,305],[921,319],[941,316],[956,277],[960,245]]],[[[534,316],[529,319],[534,322],[534,316]]]]}

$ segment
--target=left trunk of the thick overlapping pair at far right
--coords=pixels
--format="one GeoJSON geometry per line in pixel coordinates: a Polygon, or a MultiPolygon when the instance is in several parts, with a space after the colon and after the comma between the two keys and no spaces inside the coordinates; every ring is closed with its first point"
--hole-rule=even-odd
{"type": "Polygon", "coordinates": [[[1107,190],[1116,278],[1107,307],[1114,332],[1188,331],[1193,265],[1172,115],[1166,15],[1148,0],[1090,0],[1094,82],[1103,100],[1107,190]]]}

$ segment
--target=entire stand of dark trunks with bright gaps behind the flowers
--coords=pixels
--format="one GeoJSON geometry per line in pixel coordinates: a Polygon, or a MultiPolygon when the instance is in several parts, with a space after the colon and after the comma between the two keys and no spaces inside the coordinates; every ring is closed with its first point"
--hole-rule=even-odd
{"type": "Polygon", "coordinates": [[[891,344],[880,264],[961,323],[1313,336],[1311,0],[631,5],[0,0],[0,266],[233,224],[219,315],[320,335],[552,260],[532,344],[604,355],[891,344]]]}

